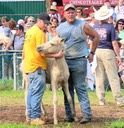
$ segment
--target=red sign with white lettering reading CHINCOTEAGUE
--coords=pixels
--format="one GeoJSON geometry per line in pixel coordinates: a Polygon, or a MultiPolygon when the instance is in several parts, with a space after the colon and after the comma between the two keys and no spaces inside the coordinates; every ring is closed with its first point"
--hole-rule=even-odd
{"type": "MultiPolygon", "coordinates": [[[[110,0],[111,5],[116,5],[117,0],[110,0]]],[[[72,3],[75,6],[101,6],[104,3],[104,0],[63,0],[63,5],[72,3]]]]}

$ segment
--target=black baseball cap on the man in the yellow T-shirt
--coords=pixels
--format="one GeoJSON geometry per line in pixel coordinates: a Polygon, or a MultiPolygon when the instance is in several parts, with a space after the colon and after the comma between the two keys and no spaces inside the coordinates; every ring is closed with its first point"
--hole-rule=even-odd
{"type": "Polygon", "coordinates": [[[42,20],[45,24],[50,24],[50,17],[46,12],[41,12],[38,19],[42,20]]]}

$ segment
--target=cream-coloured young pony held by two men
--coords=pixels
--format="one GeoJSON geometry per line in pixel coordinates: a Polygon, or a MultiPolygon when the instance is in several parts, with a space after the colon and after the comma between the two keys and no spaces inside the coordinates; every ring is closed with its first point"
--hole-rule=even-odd
{"type": "MultiPolygon", "coordinates": [[[[40,53],[45,54],[54,54],[58,53],[60,50],[65,49],[64,45],[64,39],[59,37],[54,37],[53,40],[46,42],[45,44],[42,44],[37,47],[37,51],[40,53]]],[[[78,119],[75,116],[74,106],[72,103],[72,99],[69,93],[68,89],[68,78],[69,78],[69,69],[67,66],[67,63],[65,61],[65,58],[49,58],[47,59],[48,68],[47,68],[47,82],[49,82],[52,86],[53,91],[53,105],[54,105],[54,124],[58,123],[57,119],[57,104],[58,104],[58,97],[57,97],[57,88],[59,85],[62,86],[62,88],[65,91],[65,94],[67,96],[68,102],[71,107],[72,115],[77,121],[78,119]]],[[[25,74],[23,75],[25,76],[25,74]]],[[[27,96],[27,90],[28,90],[28,79],[26,78],[26,91],[25,96],[27,96]]]]}

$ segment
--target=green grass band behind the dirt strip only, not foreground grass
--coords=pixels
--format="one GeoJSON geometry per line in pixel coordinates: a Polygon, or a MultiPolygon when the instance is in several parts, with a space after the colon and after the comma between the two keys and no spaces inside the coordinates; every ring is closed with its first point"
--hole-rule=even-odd
{"type": "MultiPolygon", "coordinates": [[[[97,104],[98,99],[95,92],[88,92],[89,99],[91,104],[97,104]]],[[[122,91],[122,95],[124,95],[124,90],[122,91]]],[[[63,105],[63,93],[61,90],[57,91],[58,96],[58,105],[63,105]]],[[[46,90],[43,96],[43,102],[44,104],[51,106],[53,100],[53,92],[46,90]]],[[[115,100],[112,96],[112,92],[106,92],[106,100],[107,102],[115,103],[115,100]]],[[[1,105],[4,105],[4,101],[8,102],[8,105],[12,105],[13,103],[11,101],[16,101],[17,105],[23,105],[24,104],[24,91],[22,90],[0,90],[0,102],[1,105]],[[17,101],[16,101],[17,100],[17,101]],[[22,104],[21,104],[22,103],[22,104]]],[[[78,103],[77,96],[75,95],[75,102],[78,103]]]]}

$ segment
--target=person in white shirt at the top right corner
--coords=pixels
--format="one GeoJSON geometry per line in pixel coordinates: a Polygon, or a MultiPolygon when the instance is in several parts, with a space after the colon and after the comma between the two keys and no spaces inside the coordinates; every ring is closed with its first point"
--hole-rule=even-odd
{"type": "Polygon", "coordinates": [[[119,19],[124,19],[124,0],[118,0],[118,5],[115,7],[116,22],[119,19]]]}

